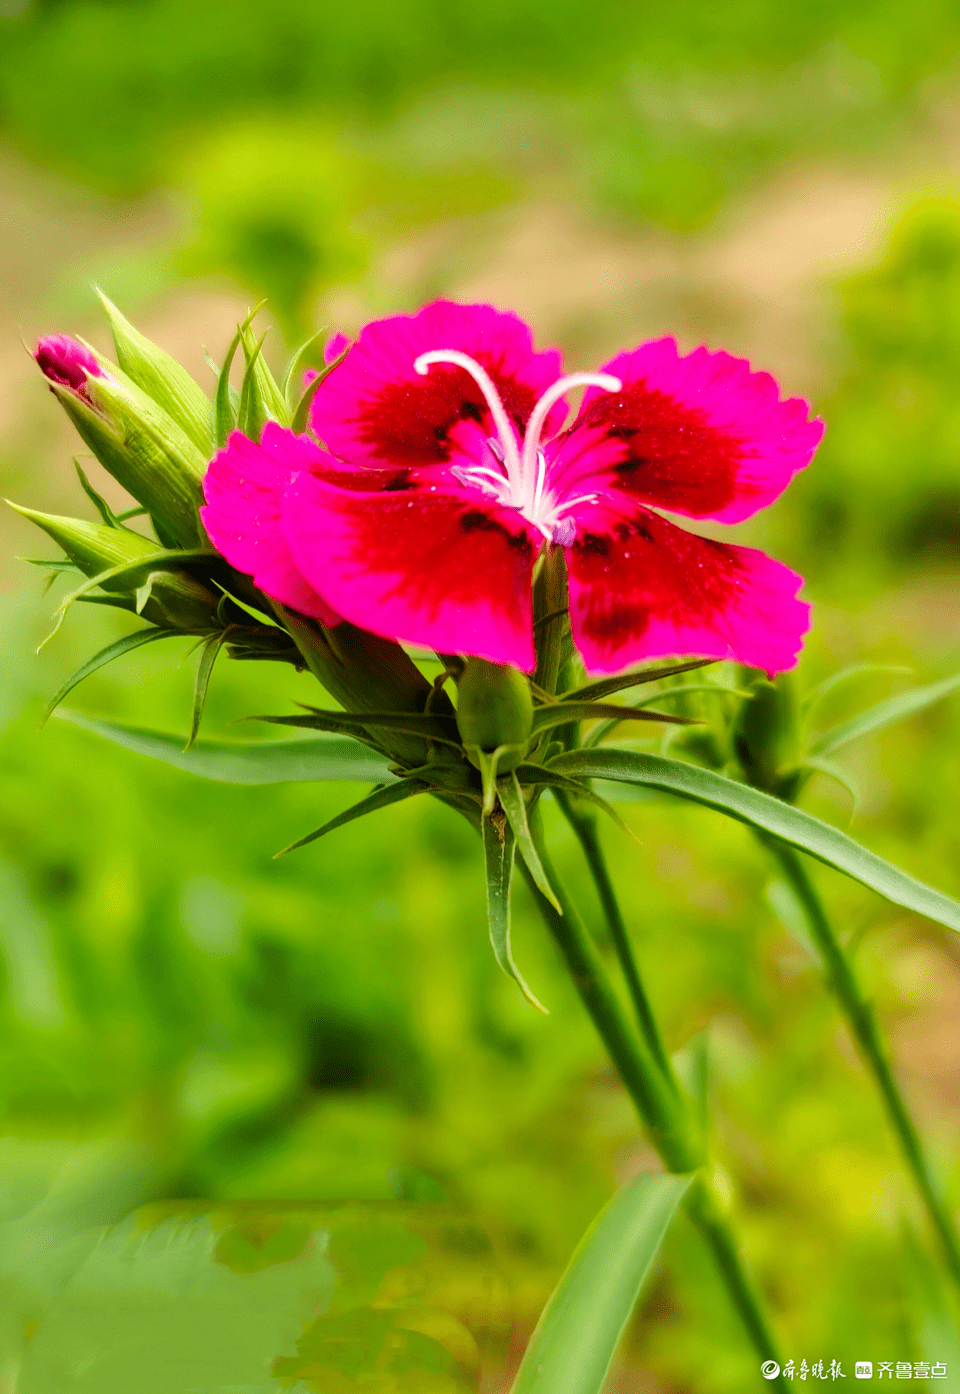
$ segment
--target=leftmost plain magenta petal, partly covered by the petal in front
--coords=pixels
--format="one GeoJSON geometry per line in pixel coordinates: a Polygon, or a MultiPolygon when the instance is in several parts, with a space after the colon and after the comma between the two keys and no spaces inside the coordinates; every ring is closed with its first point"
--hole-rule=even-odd
{"type": "Polygon", "coordinates": [[[307,436],[274,422],[263,428],[261,445],[234,431],[208,467],[201,517],[217,552],[252,576],[265,595],[333,626],[341,616],[298,570],[281,526],[290,478],[323,463],[323,452],[307,436]]]}

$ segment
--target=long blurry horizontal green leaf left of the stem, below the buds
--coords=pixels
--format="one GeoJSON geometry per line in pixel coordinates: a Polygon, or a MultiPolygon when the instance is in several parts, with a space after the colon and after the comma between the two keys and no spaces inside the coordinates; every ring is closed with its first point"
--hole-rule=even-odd
{"type": "Polygon", "coordinates": [[[315,779],[355,783],[393,783],[390,761],[347,737],[311,736],[305,740],[198,740],[184,750],[183,736],[145,730],[118,721],[59,708],[56,719],[103,736],[125,750],[163,764],[217,779],[222,783],[301,783],[315,779]]]}

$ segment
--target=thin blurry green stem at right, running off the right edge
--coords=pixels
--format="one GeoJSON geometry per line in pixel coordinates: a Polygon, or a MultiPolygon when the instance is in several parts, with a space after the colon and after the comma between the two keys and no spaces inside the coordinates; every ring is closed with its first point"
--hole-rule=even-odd
{"type": "Polygon", "coordinates": [[[927,1206],[931,1224],[940,1241],[950,1276],[954,1281],[960,1282],[960,1241],[957,1239],[953,1217],[946,1209],[931,1177],[920,1133],[914,1126],[914,1121],[893,1078],[886,1044],[874,1009],[861,993],[853,966],[833,931],[833,926],[826,916],[816,888],[807,874],[803,859],[793,848],[789,848],[783,842],[768,838],[761,838],[761,841],[773,853],[790,888],[800,901],[807,924],[823,956],[829,983],[846,1013],[850,1030],[860,1046],[864,1061],[874,1072],[904,1160],[913,1172],[917,1189],[927,1206]]]}

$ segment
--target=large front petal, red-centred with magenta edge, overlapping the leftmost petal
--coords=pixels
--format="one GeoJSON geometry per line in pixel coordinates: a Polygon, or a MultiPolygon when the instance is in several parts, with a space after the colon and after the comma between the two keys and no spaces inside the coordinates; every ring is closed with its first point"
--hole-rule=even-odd
{"type": "Polygon", "coordinates": [[[354,625],[529,672],[539,534],[465,495],[362,493],[304,471],[287,489],[284,527],[304,576],[354,625]]]}

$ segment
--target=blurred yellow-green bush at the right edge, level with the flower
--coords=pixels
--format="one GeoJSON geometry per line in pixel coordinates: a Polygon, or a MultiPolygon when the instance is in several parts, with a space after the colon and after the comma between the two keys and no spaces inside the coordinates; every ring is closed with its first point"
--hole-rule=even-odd
{"type": "Polygon", "coordinates": [[[818,468],[798,482],[807,546],[861,585],[960,562],[960,202],[927,198],[879,266],[842,286],[843,371],[818,468]]]}

